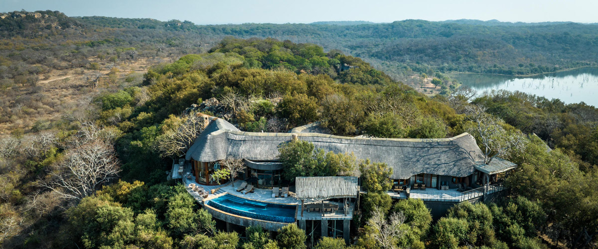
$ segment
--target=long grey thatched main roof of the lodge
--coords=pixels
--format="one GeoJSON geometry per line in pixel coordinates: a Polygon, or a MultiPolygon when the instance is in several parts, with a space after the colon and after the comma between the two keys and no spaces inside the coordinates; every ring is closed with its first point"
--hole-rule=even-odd
{"type": "Polygon", "coordinates": [[[467,133],[447,139],[378,139],[341,137],[319,133],[249,133],[239,131],[224,119],[212,119],[188,150],[186,159],[213,162],[231,156],[251,161],[276,161],[278,147],[292,135],[335,153],[355,153],[358,159],[386,162],[393,179],[428,173],[465,177],[474,173],[482,153],[467,133]]]}

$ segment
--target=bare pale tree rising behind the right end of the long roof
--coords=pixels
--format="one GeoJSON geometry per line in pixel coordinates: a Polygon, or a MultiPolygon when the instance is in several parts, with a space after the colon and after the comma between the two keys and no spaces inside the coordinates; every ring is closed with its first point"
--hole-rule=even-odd
{"type": "Polygon", "coordinates": [[[504,156],[509,149],[522,149],[526,141],[521,132],[508,133],[501,126],[501,119],[486,113],[486,108],[471,104],[465,108],[474,127],[469,132],[480,139],[484,163],[490,164],[495,156],[504,156]]]}

